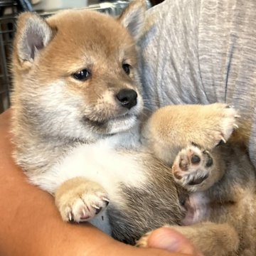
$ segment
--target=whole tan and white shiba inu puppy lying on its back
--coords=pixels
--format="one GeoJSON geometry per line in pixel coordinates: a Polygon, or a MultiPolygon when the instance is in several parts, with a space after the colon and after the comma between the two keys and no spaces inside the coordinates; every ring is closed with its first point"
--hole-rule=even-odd
{"type": "MultiPolygon", "coordinates": [[[[87,10],[46,19],[21,14],[12,63],[16,163],[54,196],[63,220],[90,221],[130,244],[164,224],[180,228],[206,219],[195,219],[187,191],[213,188],[209,193],[216,194],[213,184],[226,177],[225,147],[214,149],[216,156],[205,149],[228,140],[237,115],[225,104],[170,106],[146,115],[137,57],[144,12],[144,2],[134,1],[118,18],[87,10]]],[[[233,188],[228,184],[221,194],[233,188]]],[[[238,210],[235,196],[228,202],[238,210]]],[[[247,248],[225,210],[209,219],[215,224],[181,232],[206,255],[247,248]]]]}

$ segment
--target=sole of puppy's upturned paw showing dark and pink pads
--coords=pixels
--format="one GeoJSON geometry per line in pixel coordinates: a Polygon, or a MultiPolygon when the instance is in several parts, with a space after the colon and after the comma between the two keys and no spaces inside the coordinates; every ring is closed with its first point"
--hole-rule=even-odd
{"type": "Polygon", "coordinates": [[[203,191],[209,183],[210,173],[214,168],[213,157],[206,150],[197,146],[182,149],[172,166],[174,180],[188,191],[203,191]]]}

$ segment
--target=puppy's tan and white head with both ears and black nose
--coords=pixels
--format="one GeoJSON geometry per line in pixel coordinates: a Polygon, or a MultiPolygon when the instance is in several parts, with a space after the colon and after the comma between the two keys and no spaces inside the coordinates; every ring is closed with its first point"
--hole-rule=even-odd
{"type": "Polygon", "coordinates": [[[87,10],[44,20],[25,13],[14,41],[14,112],[41,134],[97,139],[130,129],[142,111],[136,41],[145,5],[118,18],[87,10]]]}

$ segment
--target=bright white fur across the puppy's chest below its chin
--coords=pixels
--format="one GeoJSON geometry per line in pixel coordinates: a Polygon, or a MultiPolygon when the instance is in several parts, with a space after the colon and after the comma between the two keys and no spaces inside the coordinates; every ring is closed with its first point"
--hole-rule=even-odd
{"type": "MultiPolygon", "coordinates": [[[[120,206],[125,203],[122,193],[118,191],[120,183],[138,188],[146,182],[146,174],[142,165],[137,162],[136,154],[129,151],[134,146],[139,147],[136,134],[134,136],[129,139],[128,149],[120,146],[122,143],[127,144],[127,135],[102,139],[94,144],[78,144],[58,160],[52,169],[31,177],[31,181],[54,194],[61,184],[71,178],[87,178],[105,188],[110,202],[120,206]]],[[[92,223],[110,234],[110,225],[104,211],[92,223]]]]}

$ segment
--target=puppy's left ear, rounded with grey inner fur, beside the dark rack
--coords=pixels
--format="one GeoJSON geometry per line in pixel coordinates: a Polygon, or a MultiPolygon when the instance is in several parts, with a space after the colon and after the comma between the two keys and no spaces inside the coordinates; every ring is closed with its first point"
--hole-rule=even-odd
{"type": "Polygon", "coordinates": [[[33,13],[18,16],[14,48],[20,63],[33,63],[36,55],[48,45],[53,37],[53,30],[48,23],[33,13]]]}

